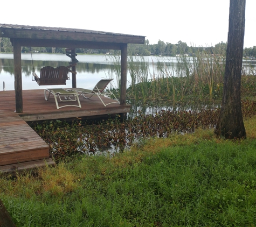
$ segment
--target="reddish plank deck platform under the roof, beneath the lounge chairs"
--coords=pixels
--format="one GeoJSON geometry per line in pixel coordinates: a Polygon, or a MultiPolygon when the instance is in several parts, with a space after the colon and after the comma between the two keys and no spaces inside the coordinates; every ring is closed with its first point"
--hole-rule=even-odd
{"type": "MultiPolygon", "coordinates": [[[[105,103],[112,100],[102,97],[105,103]]],[[[72,102],[69,102],[72,103],[72,102]]],[[[77,102],[74,102],[77,104],[77,102]]],[[[23,113],[18,113],[26,122],[47,120],[47,119],[65,119],[75,117],[92,117],[108,114],[127,113],[130,111],[130,105],[109,104],[105,107],[97,96],[91,97],[89,100],[80,96],[82,108],[64,107],[57,109],[53,95],[49,101],[45,101],[44,89],[39,90],[23,90],[23,113]]],[[[65,102],[59,102],[59,105],[65,105],[65,102]]],[[[15,91],[0,91],[0,110],[14,112],[15,91]]]]}

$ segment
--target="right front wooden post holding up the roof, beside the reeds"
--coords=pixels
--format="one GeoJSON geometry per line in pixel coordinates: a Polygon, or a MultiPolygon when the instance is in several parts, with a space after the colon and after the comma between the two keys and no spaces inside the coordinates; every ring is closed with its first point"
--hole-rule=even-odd
{"type": "Polygon", "coordinates": [[[121,83],[120,83],[120,105],[126,105],[127,84],[127,44],[121,45],[121,83]]]}

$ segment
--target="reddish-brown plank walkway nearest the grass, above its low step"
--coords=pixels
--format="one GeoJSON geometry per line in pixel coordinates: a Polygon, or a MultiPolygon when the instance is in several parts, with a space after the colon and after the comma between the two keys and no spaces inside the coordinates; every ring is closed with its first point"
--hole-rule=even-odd
{"type": "Polygon", "coordinates": [[[0,109],[0,166],[49,159],[49,146],[17,113],[0,109]]]}

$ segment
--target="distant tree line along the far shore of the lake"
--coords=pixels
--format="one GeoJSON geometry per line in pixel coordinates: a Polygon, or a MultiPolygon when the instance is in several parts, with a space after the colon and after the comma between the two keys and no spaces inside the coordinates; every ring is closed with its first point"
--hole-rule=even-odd
{"type": "MultiPolygon", "coordinates": [[[[188,55],[191,56],[198,52],[206,51],[211,54],[226,54],[227,42],[219,42],[214,47],[194,47],[188,46],[186,42],[178,41],[177,44],[171,44],[170,42],[164,42],[158,40],[157,44],[150,44],[149,40],[145,41],[144,45],[141,44],[128,44],[128,55],[161,55],[161,56],[176,56],[176,55],[188,55]]],[[[65,48],[56,47],[31,47],[32,52],[37,53],[65,53],[65,48]]],[[[0,38],[0,52],[12,52],[12,44],[9,38],[0,38]]],[[[82,54],[120,54],[116,49],[75,49],[76,53],[82,54]]],[[[22,47],[22,53],[30,53],[30,47],[22,47]]],[[[256,46],[245,48],[244,57],[256,58],[256,46]]]]}

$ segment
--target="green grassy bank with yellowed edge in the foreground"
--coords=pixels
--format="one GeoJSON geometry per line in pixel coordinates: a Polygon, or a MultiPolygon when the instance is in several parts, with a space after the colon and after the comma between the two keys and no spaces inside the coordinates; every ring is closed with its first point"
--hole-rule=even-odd
{"type": "Polygon", "coordinates": [[[2,175],[0,197],[17,226],[254,226],[256,118],[245,126],[242,141],[197,129],[2,175]]]}

